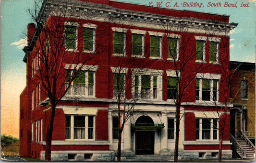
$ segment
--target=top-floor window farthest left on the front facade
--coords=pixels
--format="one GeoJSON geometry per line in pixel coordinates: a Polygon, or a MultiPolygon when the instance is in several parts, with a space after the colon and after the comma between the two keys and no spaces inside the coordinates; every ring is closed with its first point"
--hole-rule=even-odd
{"type": "Polygon", "coordinates": [[[68,50],[75,50],[77,47],[77,26],[65,26],[65,46],[68,50]]]}

